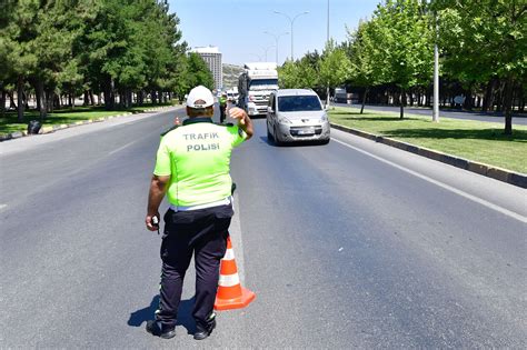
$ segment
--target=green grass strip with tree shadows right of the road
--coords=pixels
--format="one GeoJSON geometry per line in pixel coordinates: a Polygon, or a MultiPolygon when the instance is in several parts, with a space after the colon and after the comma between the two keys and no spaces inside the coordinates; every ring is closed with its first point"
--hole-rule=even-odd
{"type": "MultiPolygon", "coordinates": [[[[513,136],[504,134],[504,123],[335,108],[331,122],[405,141],[468,160],[527,173],[527,127],[514,126],[513,136]]],[[[513,120],[514,123],[514,120],[513,120]]]]}

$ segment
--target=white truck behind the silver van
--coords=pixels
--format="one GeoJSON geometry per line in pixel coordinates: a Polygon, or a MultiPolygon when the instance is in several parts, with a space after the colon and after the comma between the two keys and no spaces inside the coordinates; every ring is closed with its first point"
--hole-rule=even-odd
{"type": "Polygon", "coordinates": [[[264,116],[267,113],[269,94],[278,90],[278,71],[275,62],[252,62],[243,66],[238,78],[238,106],[247,114],[264,116]]]}

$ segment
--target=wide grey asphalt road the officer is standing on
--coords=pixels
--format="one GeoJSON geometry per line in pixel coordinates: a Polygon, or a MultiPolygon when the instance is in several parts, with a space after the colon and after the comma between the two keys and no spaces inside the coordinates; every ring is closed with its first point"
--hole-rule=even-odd
{"type": "Polygon", "coordinates": [[[197,342],[190,269],[178,336],[146,333],[160,238],[143,218],[173,113],[0,143],[0,348],[527,347],[525,190],[337,130],[278,148],[262,119],[231,164],[256,301],[197,342]]]}

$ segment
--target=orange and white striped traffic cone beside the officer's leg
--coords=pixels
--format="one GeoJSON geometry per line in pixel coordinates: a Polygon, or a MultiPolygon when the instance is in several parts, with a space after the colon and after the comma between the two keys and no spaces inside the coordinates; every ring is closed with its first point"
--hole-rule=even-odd
{"type": "Polygon", "coordinates": [[[236,267],[235,251],[230,237],[227,237],[227,251],[221,259],[218,293],[216,294],[215,310],[242,309],[247,307],[256,294],[240,284],[238,268],[236,267]]]}

